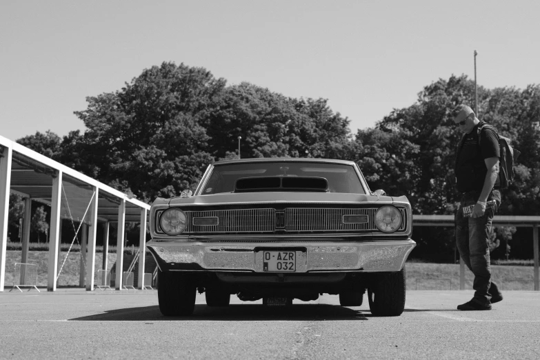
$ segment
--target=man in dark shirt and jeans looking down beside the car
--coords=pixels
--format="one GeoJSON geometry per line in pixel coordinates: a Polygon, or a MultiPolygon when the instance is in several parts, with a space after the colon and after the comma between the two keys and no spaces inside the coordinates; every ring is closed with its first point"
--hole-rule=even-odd
{"type": "Polygon", "coordinates": [[[501,193],[494,190],[499,175],[499,138],[494,128],[479,121],[469,106],[452,112],[454,125],[464,135],[457,148],[455,174],[460,194],[455,216],[456,244],[461,259],[474,274],[474,297],[458,310],[491,310],[491,304],[503,299],[497,284],[491,281],[489,233],[494,213],[501,204],[501,193]],[[494,206],[486,207],[488,201],[494,206]],[[470,217],[463,208],[474,205],[470,217]]]}

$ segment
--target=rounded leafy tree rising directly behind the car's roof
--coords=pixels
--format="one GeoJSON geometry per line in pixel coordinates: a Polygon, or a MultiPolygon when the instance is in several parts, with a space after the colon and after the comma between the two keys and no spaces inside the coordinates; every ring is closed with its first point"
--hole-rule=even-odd
{"type": "Polygon", "coordinates": [[[232,157],[346,157],[348,119],[325,99],[292,99],[250,83],[230,86],[208,121],[210,154],[232,157]]]}

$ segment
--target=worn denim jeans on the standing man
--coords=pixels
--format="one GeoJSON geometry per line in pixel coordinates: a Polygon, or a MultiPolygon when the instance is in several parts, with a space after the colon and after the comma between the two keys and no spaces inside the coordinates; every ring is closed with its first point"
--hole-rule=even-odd
{"type": "Polygon", "coordinates": [[[457,250],[465,265],[474,274],[472,288],[474,301],[481,304],[490,303],[492,296],[499,296],[497,284],[491,281],[489,234],[491,223],[497,208],[501,205],[501,194],[497,190],[488,197],[495,200],[494,208],[487,208],[482,217],[463,217],[461,208],[474,205],[479,192],[467,192],[461,196],[459,210],[455,215],[457,250]]]}

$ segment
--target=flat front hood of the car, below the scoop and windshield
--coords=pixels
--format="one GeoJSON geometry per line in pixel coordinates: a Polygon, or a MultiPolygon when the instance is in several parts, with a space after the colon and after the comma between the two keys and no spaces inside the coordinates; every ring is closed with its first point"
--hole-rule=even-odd
{"type": "Polygon", "coordinates": [[[158,198],[154,204],[179,205],[232,205],[243,203],[394,203],[407,202],[406,197],[388,197],[337,192],[245,192],[199,195],[194,197],[158,198]]]}

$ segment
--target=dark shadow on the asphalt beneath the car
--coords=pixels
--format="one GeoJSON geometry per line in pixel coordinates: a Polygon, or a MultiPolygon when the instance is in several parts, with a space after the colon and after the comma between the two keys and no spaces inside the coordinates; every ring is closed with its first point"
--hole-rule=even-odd
{"type": "Polygon", "coordinates": [[[165,317],[159,306],[123,308],[101,314],[77,317],[68,321],[339,321],[368,320],[368,310],[354,310],[327,304],[307,304],[269,308],[260,304],[234,304],[226,307],[210,307],[197,304],[192,315],[165,317]]]}

